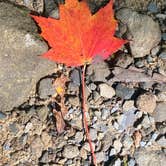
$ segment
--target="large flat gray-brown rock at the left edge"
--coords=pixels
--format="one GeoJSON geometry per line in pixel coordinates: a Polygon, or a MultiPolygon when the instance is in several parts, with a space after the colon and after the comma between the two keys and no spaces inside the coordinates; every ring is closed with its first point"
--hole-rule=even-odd
{"type": "Polygon", "coordinates": [[[47,45],[36,35],[28,11],[0,1],[0,110],[25,102],[36,82],[51,73],[54,63],[39,57],[47,45]]]}

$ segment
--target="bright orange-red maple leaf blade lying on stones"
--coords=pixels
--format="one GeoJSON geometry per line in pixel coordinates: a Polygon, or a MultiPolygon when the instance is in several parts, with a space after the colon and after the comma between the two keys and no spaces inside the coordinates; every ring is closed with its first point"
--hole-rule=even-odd
{"type": "Polygon", "coordinates": [[[67,66],[91,63],[95,56],[107,59],[126,43],[114,37],[117,21],[112,6],[111,0],[92,15],[84,0],[66,0],[59,7],[59,20],[32,15],[51,47],[43,57],[67,66]]]}

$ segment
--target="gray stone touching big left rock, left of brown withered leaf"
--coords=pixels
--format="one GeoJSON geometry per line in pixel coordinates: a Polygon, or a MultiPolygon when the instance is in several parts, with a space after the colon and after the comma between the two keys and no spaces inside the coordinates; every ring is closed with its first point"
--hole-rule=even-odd
{"type": "Polygon", "coordinates": [[[41,99],[47,99],[55,94],[55,88],[52,85],[52,78],[44,78],[39,82],[38,94],[41,99]]]}

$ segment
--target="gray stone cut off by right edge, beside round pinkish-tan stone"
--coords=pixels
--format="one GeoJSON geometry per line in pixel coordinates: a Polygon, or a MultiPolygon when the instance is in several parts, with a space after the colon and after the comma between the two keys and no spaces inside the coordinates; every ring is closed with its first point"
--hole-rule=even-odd
{"type": "Polygon", "coordinates": [[[166,102],[157,103],[156,109],[154,111],[155,122],[166,121],[166,102]]]}

